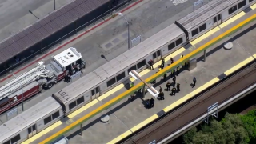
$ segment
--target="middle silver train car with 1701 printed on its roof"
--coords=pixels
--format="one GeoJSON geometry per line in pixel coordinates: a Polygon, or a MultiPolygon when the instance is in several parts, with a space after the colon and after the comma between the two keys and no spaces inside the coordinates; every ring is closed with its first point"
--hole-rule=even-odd
{"type": "Polygon", "coordinates": [[[175,24],[171,24],[141,44],[53,94],[53,97],[62,104],[64,114],[70,114],[99,95],[106,93],[113,86],[128,83],[130,70],[146,69],[146,63],[150,59],[157,62],[162,56],[177,50],[184,42],[184,32],[175,24]],[[175,46],[169,49],[168,46],[173,42],[175,46]]]}

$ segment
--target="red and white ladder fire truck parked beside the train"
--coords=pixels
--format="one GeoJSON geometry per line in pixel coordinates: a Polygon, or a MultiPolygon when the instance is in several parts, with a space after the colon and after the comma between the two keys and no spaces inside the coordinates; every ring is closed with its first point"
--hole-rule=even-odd
{"type": "Polygon", "coordinates": [[[47,63],[45,65],[44,62],[38,62],[38,66],[32,70],[0,87],[0,114],[22,102],[22,92],[26,100],[41,92],[42,88],[51,88],[66,74],[73,75],[86,66],[82,60],[82,54],[78,53],[74,47],[55,55],[47,63]]]}

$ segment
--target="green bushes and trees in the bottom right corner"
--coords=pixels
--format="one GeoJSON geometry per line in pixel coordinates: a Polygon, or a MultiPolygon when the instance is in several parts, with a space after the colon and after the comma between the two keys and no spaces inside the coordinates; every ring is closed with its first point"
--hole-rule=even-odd
{"type": "Polygon", "coordinates": [[[245,115],[227,113],[220,122],[211,119],[209,125],[186,132],[183,141],[186,144],[255,144],[256,110],[245,115]]]}

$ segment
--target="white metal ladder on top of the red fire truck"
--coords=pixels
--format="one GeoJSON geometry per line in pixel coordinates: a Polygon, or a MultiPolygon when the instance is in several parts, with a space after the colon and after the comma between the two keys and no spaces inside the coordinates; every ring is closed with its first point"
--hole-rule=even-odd
{"type": "Polygon", "coordinates": [[[14,78],[2,86],[0,88],[0,100],[18,90],[21,87],[20,84],[22,84],[22,86],[26,86],[30,82],[35,81],[38,76],[48,73],[49,70],[46,69],[45,65],[43,65],[43,62],[39,62],[37,67],[19,75],[18,78],[14,78]]]}

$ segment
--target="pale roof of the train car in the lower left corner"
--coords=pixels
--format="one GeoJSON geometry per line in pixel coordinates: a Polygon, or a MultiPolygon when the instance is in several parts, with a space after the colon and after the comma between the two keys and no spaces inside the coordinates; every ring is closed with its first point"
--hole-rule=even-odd
{"type": "Polygon", "coordinates": [[[18,114],[0,126],[0,142],[6,142],[7,139],[13,138],[18,132],[26,129],[28,126],[32,126],[34,122],[37,122],[59,107],[61,106],[58,102],[54,98],[49,97],[30,107],[29,110],[24,111],[22,114],[18,114]]]}

